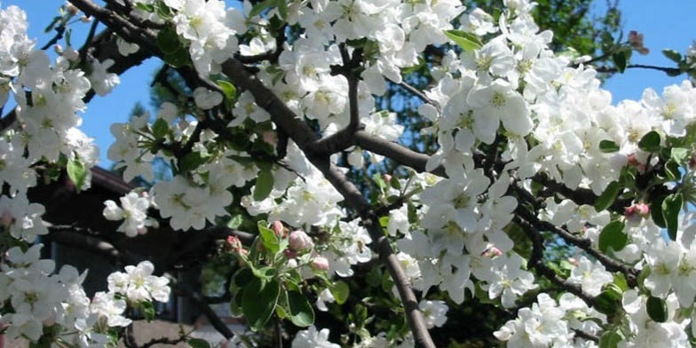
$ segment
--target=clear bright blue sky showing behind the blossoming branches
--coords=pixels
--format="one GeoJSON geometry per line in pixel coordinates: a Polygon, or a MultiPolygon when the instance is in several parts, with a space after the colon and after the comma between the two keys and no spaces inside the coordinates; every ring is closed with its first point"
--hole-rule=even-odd
{"type": "MultiPolygon", "coordinates": [[[[29,21],[28,35],[36,37],[39,45],[44,45],[51,36],[43,33],[44,28],[57,14],[61,0],[4,0],[3,8],[18,5],[27,12],[29,21]]],[[[231,2],[230,2],[231,3],[231,2]]],[[[594,11],[602,12],[604,0],[597,0],[594,11]]],[[[687,47],[696,39],[696,27],[693,26],[693,14],[696,13],[696,1],[693,0],[623,0],[620,5],[623,26],[628,36],[629,30],[637,30],[645,35],[645,47],[651,52],[647,56],[634,54],[633,64],[672,67],[673,63],[662,56],[666,48],[684,54],[687,47]]],[[[82,40],[90,24],[75,23],[73,41],[75,46],[82,45],[82,40]]],[[[103,28],[103,27],[102,27],[103,28]]],[[[149,107],[149,84],[153,71],[160,66],[156,59],[149,59],[138,67],[133,67],[121,76],[121,84],[106,97],[95,97],[83,115],[82,130],[90,137],[96,138],[101,149],[101,165],[108,166],[107,149],[114,141],[108,125],[125,122],[130,109],[140,101],[149,107]]],[[[605,89],[612,91],[613,102],[621,99],[640,99],[647,87],[661,92],[664,86],[681,83],[685,76],[668,77],[664,73],[645,69],[629,69],[623,75],[616,75],[605,83],[605,89]]],[[[8,106],[9,107],[9,106],[8,106]]]]}

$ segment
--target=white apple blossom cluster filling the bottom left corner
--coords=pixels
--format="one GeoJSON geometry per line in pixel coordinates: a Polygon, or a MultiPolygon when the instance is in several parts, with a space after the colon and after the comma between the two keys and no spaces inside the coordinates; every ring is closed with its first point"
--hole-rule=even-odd
{"type": "Polygon", "coordinates": [[[126,273],[112,273],[109,292],[90,299],[82,287],[87,272],[64,265],[53,273],[55,263],[40,259],[41,248],[9,249],[0,265],[0,323],[7,326],[4,335],[10,340],[25,336],[36,342],[50,329],[55,344],[105,346],[111,342],[109,327],[130,325],[123,316],[127,301],[169,301],[169,280],[151,275],[148,261],[126,266],[126,273]]]}

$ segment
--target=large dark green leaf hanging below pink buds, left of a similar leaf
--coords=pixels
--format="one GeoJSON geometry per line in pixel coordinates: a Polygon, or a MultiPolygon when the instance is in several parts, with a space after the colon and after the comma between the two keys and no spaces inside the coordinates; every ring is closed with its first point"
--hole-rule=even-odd
{"type": "Polygon", "coordinates": [[[265,323],[271,319],[280,293],[281,285],[276,279],[264,282],[255,277],[244,287],[241,312],[252,330],[264,328],[265,323]]]}

